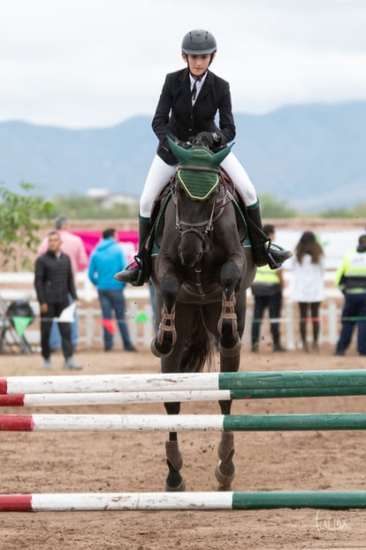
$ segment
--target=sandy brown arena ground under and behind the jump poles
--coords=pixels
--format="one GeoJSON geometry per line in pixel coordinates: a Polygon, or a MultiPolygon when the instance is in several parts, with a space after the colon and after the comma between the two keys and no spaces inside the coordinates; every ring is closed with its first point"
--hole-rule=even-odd
{"type": "MultiPolygon", "coordinates": [[[[148,350],[79,352],[81,374],[156,373],[159,362],[148,350]]],[[[62,375],[62,357],[52,375],[62,375]]],[[[44,375],[34,355],[3,354],[1,376],[44,375]]],[[[365,368],[352,349],[332,357],[243,348],[240,370],[365,368]]],[[[217,361],[216,361],[216,368],[217,361]]],[[[236,401],[233,414],[365,412],[364,397],[236,401]]],[[[20,409],[5,408],[3,413],[20,409]]],[[[164,413],[163,405],[29,407],[22,413],[164,413]],[[92,410],[91,410],[92,409],[92,410]]],[[[182,413],[219,414],[217,403],[183,404],[182,413]]],[[[166,466],[163,432],[3,432],[2,491],[159,492],[166,466]]],[[[180,449],[187,491],[216,491],[217,432],[182,432],[180,449]]],[[[237,433],[234,491],[366,490],[362,431],[237,433]]],[[[365,512],[314,509],[179,512],[73,512],[0,514],[4,550],[243,550],[366,548],[365,512]]]]}

